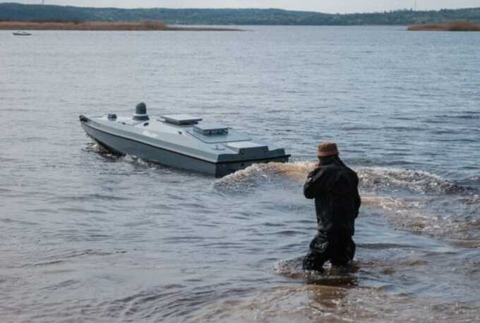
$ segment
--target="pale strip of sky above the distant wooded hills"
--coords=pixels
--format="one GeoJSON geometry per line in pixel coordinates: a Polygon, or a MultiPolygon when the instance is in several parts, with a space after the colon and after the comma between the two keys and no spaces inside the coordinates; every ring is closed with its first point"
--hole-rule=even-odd
{"type": "MultiPolygon", "coordinates": [[[[40,4],[42,0],[10,0],[40,4]]],[[[414,8],[415,0],[45,0],[45,4],[121,8],[283,8],[291,10],[352,13],[414,8]]],[[[419,10],[480,7],[480,0],[416,0],[419,10]]]]}

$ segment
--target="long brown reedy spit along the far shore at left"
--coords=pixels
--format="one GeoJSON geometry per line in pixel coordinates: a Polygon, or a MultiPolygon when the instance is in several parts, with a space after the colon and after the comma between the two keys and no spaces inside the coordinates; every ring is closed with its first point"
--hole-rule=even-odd
{"type": "Polygon", "coordinates": [[[185,31],[241,31],[235,28],[210,27],[170,27],[156,21],[139,23],[105,23],[105,22],[30,22],[0,21],[0,30],[185,30],[185,31]]]}

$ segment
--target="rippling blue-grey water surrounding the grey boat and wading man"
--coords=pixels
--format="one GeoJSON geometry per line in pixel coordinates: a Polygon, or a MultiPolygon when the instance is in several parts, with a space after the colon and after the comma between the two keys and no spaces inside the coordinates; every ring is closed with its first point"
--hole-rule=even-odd
{"type": "Polygon", "coordinates": [[[0,32],[2,322],[478,322],[480,34],[0,32]],[[224,178],[115,157],[79,114],[284,147],[224,178]],[[318,142],[359,173],[350,269],[301,271],[318,142]]]}

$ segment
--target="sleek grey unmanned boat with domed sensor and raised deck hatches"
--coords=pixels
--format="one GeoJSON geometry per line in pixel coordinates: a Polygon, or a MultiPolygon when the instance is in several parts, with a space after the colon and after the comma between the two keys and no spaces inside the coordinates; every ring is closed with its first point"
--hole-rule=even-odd
{"type": "Polygon", "coordinates": [[[114,153],[219,177],[251,164],[288,162],[290,157],[283,148],[195,116],[150,119],[144,103],[136,106],[132,117],[81,115],[80,123],[93,140],[114,153]]]}

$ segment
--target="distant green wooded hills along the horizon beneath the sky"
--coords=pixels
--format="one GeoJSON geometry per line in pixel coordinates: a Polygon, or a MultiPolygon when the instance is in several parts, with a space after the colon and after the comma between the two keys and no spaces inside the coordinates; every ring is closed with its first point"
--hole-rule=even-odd
{"type": "Polygon", "coordinates": [[[330,14],[281,9],[120,9],[0,4],[0,20],[103,21],[158,20],[179,25],[416,25],[470,20],[480,23],[480,8],[440,11],[385,11],[330,14]]]}

